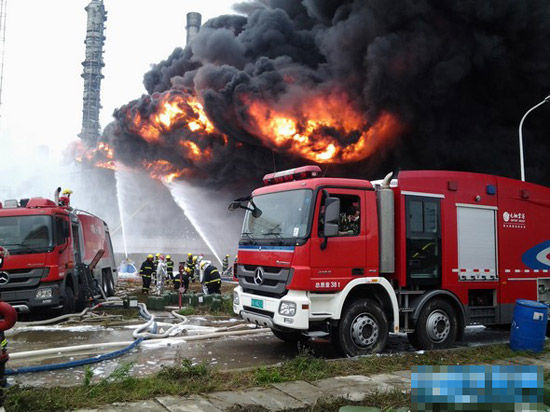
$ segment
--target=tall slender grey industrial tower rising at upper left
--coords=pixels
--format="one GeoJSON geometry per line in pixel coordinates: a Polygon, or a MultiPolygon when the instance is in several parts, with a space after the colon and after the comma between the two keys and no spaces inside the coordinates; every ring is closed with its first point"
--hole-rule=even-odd
{"type": "Polygon", "coordinates": [[[84,70],[84,105],[82,107],[82,131],[78,135],[85,145],[95,147],[99,140],[99,109],[101,90],[101,68],[103,63],[103,45],[107,12],[103,0],[92,0],[85,8],[88,13],[86,27],[86,59],[82,62],[84,70]]]}

